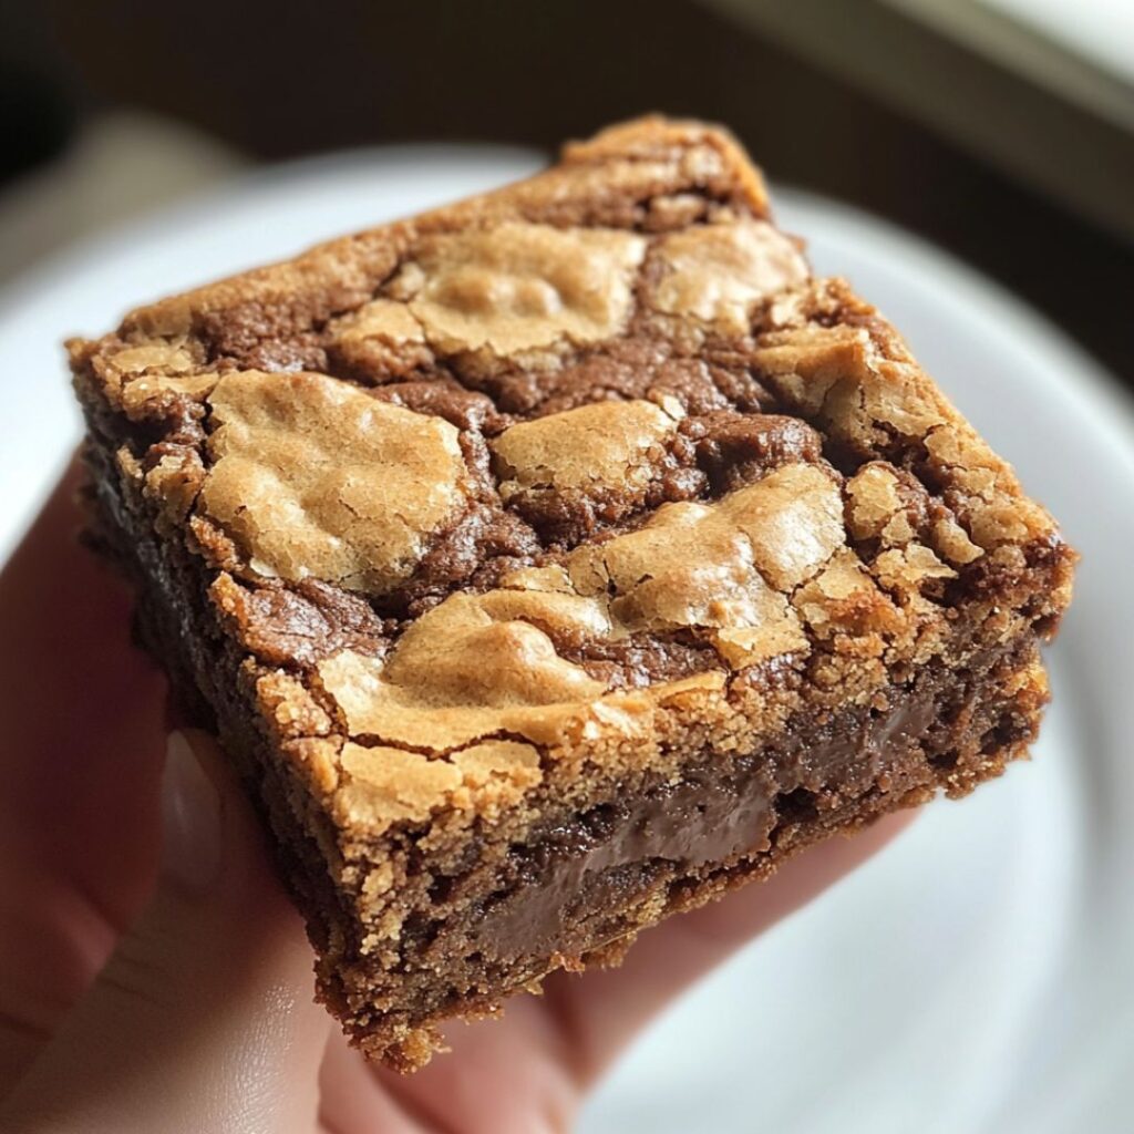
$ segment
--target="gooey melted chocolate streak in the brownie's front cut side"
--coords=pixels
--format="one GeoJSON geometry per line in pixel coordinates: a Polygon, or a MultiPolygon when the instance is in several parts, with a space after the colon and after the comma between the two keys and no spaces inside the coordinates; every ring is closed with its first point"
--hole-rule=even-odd
{"type": "MultiPolygon", "coordinates": [[[[891,700],[889,712],[840,721],[828,739],[810,739],[802,722],[790,727],[786,739],[806,748],[813,781],[843,789],[852,769],[873,780],[902,763],[937,705],[922,689],[895,691],[891,700]]],[[[785,816],[815,814],[814,792],[779,781],[777,755],[765,748],[694,763],[676,784],[599,804],[513,848],[500,872],[505,885],[464,915],[475,951],[502,963],[585,953],[596,942],[581,926],[617,912],[620,902],[606,896],[625,892],[626,868],[645,880],[658,862],[695,874],[767,853],[785,816]]]]}

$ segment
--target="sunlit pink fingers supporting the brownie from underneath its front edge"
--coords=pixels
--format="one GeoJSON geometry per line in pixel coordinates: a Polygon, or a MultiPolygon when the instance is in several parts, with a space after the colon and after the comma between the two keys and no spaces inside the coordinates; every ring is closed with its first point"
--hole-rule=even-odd
{"type": "Polygon", "coordinates": [[[907,823],[883,819],[788,861],[767,882],[643,933],[617,970],[556,973],[496,1024],[454,1025],[450,1051],[416,1075],[376,1069],[411,1112],[438,1128],[519,1134],[570,1126],[585,1088],[683,989],[843,878],[907,823]]]}

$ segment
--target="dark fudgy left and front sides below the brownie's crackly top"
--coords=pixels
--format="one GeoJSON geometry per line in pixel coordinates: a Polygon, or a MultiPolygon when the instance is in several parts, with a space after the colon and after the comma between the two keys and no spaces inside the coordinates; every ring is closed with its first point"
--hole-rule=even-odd
{"type": "Polygon", "coordinates": [[[446,1019],[496,1014],[510,992],[557,968],[616,963],[641,930],[767,878],[832,833],[941,789],[965,794],[1025,754],[1046,701],[1029,634],[963,671],[925,667],[888,691],[885,713],[799,714],[758,752],[691,761],[677,784],[646,781],[595,799],[521,845],[497,848],[491,869],[447,878],[445,892],[404,911],[391,964],[365,955],[357,899],[329,870],[333,832],[319,830],[252,720],[242,655],[226,649],[203,573],[155,539],[105,450],[90,447],[87,460],[95,539],[137,585],[139,637],[166,665],[183,706],[218,727],[276,835],[318,954],[320,999],[355,1044],[401,1070],[428,1061],[446,1019]]]}

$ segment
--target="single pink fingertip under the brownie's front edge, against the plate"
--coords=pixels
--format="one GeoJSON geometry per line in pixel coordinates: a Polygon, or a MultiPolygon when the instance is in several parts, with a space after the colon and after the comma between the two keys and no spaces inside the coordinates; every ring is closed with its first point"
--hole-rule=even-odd
{"type": "Polygon", "coordinates": [[[684,989],[870,858],[913,819],[888,815],[854,838],[828,839],[786,862],[767,881],[643,933],[618,968],[585,978],[556,973],[544,1005],[568,1038],[586,1084],[684,989]]]}

